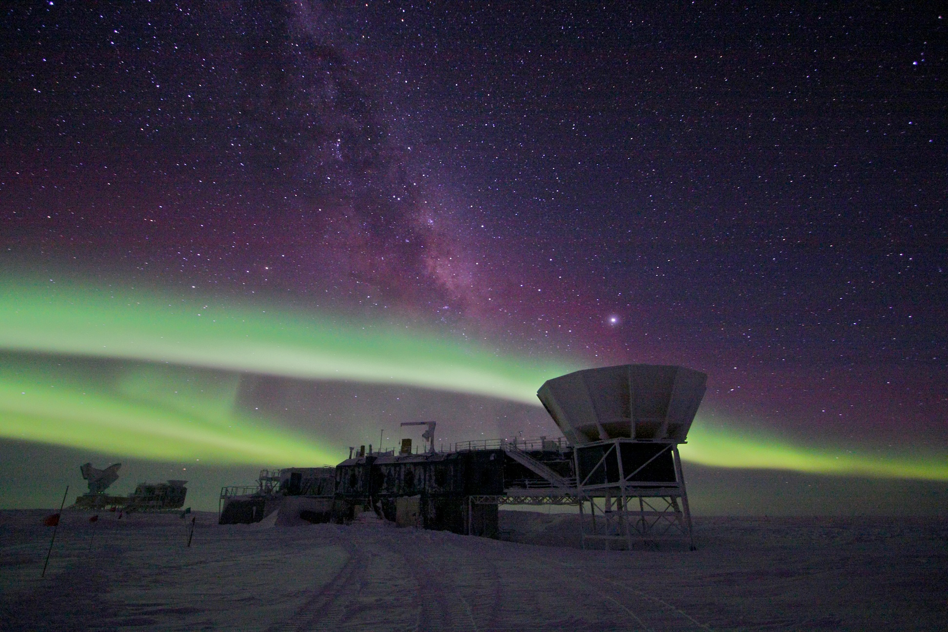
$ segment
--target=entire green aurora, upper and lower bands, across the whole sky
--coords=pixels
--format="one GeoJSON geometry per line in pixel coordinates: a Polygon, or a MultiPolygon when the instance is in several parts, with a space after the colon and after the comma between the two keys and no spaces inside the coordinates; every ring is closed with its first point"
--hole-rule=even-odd
{"type": "MultiPolygon", "coordinates": [[[[239,411],[242,372],[438,389],[539,406],[539,385],[582,368],[394,324],[356,326],[341,316],[65,283],[0,285],[0,351],[37,354],[35,365],[0,370],[0,437],[209,464],[337,461],[337,446],[239,411]],[[53,355],[137,364],[102,379],[53,368],[53,355]]],[[[709,424],[707,414],[705,406],[682,446],[685,460],[948,480],[943,455],[817,450],[736,425],[709,424]]]]}

